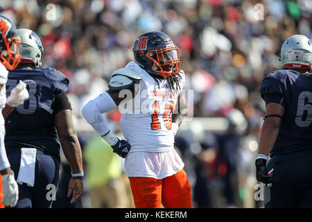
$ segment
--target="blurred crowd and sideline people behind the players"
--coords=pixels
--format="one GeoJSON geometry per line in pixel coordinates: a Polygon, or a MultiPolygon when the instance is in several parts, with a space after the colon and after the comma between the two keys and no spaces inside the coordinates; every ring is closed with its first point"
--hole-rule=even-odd
{"type": "MultiPolygon", "coordinates": [[[[83,105],[108,89],[112,72],[133,60],[132,45],[141,33],[167,33],[180,47],[193,117],[224,117],[229,123],[223,133],[202,132],[200,138],[192,130],[177,134],[194,207],[259,205],[254,159],[265,111],[259,87],[266,74],[280,69],[286,38],[312,37],[311,0],[6,0],[0,1],[0,13],[40,35],[43,67],[69,78],[78,119],[83,105]]],[[[111,112],[107,119],[118,131],[120,114],[111,112]]],[[[107,154],[107,144],[94,134],[78,134],[86,169],[79,206],[133,207],[120,199],[131,198],[121,158],[107,154]]]]}

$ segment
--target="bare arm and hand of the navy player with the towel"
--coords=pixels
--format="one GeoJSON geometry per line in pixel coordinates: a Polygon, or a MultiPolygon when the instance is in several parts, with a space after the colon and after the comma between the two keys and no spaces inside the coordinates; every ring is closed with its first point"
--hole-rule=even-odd
{"type": "MultiPolygon", "coordinates": [[[[58,137],[62,144],[64,155],[71,166],[73,173],[78,173],[83,170],[83,155],[81,153],[80,144],[73,121],[71,110],[62,110],[55,114],[55,128],[58,131],[58,137]]],[[[76,202],[83,195],[83,179],[71,178],[67,197],[71,196],[71,203],[76,202]]]]}

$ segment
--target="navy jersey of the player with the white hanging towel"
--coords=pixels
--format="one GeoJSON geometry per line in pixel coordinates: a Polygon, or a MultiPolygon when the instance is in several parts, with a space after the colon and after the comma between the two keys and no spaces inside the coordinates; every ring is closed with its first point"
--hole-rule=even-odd
{"type": "Polygon", "coordinates": [[[67,92],[68,78],[53,68],[15,69],[8,74],[7,96],[19,80],[26,83],[29,99],[6,118],[7,153],[19,148],[37,148],[59,157],[53,102],[67,92]]]}

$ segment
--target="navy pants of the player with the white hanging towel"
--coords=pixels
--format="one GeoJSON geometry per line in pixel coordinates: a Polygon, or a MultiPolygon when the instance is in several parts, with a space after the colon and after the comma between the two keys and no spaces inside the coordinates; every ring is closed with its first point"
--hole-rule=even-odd
{"type": "MultiPolygon", "coordinates": [[[[15,180],[19,172],[21,150],[8,153],[11,169],[15,173],[15,180]]],[[[25,183],[19,185],[19,200],[17,208],[51,208],[53,203],[53,186],[58,188],[60,160],[37,150],[35,164],[35,184],[29,187],[25,183]],[[49,193],[48,193],[49,192],[49,193]],[[52,198],[51,198],[52,196],[52,198]]]]}

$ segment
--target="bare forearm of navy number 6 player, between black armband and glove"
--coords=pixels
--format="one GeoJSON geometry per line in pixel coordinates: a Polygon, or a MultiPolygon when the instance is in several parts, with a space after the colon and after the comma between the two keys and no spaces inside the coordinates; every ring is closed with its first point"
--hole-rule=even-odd
{"type": "Polygon", "coordinates": [[[264,121],[259,144],[259,154],[269,155],[279,134],[279,123],[272,119],[264,121]]]}

